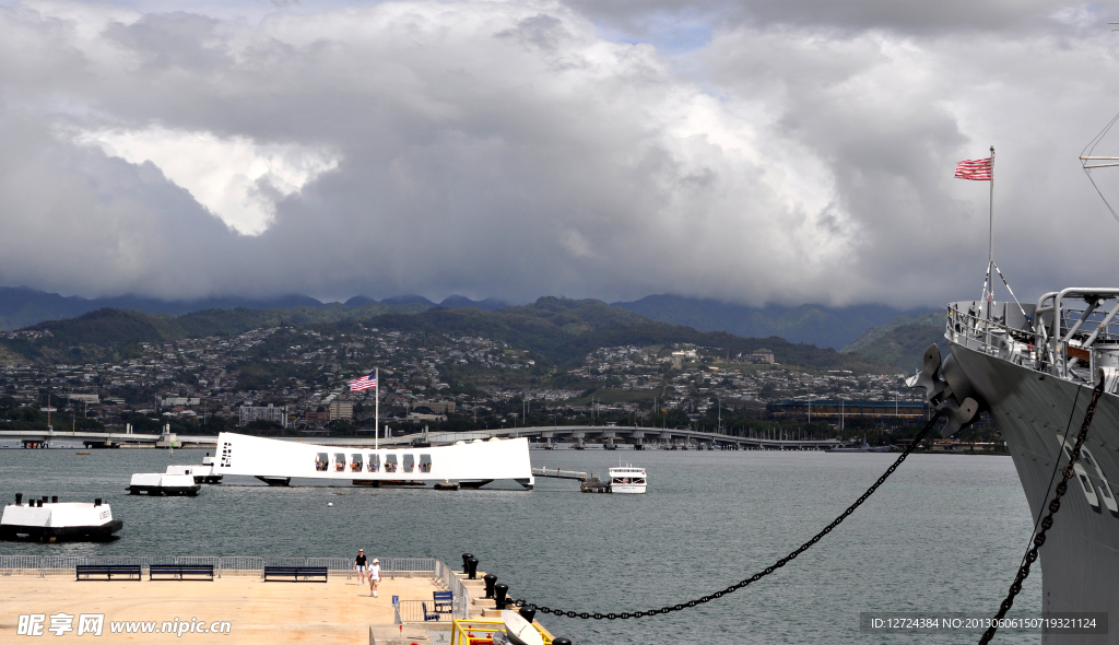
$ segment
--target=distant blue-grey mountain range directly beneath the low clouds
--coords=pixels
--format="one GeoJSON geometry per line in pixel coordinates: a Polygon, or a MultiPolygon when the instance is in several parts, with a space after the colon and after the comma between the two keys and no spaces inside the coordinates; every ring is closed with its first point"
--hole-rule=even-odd
{"type": "MultiPolygon", "coordinates": [[[[930,343],[942,335],[940,314],[928,309],[902,310],[883,305],[855,305],[849,307],[824,307],[801,305],[787,307],[767,305],[747,307],[711,299],[683,296],[648,296],[631,302],[613,302],[606,306],[598,300],[563,300],[542,298],[526,307],[536,308],[538,318],[544,302],[593,302],[595,317],[605,311],[611,314],[611,325],[618,326],[618,315],[622,311],[630,319],[645,322],[662,322],[690,327],[696,331],[722,331],[740,338],[780,338],[791,345],[815,345],[820,348],[838,349],[844,354],[858,355],[897,368],[911,370],[930,343]],[[601,307],[599,307],[601,305],[601,307]]],[[[516,318],[524,314],[524,307],[511,307],[502,300],[487,298],[471,300],[463,296],[451,296],[434,302],[423,296],[407,295],[377,300],[367,296],[355,296],[346,302],[322,302],[314,298],[291,295],[271,299],[207,298],[199,300],[159,300],[140,296],[117,296],[112,298],[86,299],[63,297],[28,288],[0,288],[0,330],[19,329],[50,320],[84,317],[102,309],[132,310],[149,315],[147,324],[159,328],[163,338],[181,338],[209,334],[236,334],[257,327],[310,324],[332,324],[344,320],[369,319],[380,316],[410,316],[410,324],[439,319],[439,314],[414,319],[412,315],[430,310],[476,309],[488,312],[505,312],[493,320],[516,318]],[[518,314],[520,312],[520,314],[518,314]]],[[[590,315],[591,309],[583,314],[590,315]]],[[[592,317],[593,318],[593,317],[592,317]]],[[[109,319],[123,322],[120,318],[101,315],[84,319],[101,330],[94,336],[109,333],[104,327],[109,319]]],[[[492,320],[491,320],[492,321],[492,320]]],[[[521,322],[525,322],[521,319],[521,322]]],[[[403,324],[403,321],[401,322],[403,324]]],[[[586,320],[568,320],[564,325],[585,326],[586,320]]],[[[594,321],[590,322],[592,326],[594,321]]],[[[113,327],[113,325],[110,325],[113,327]]],[[[51,326],[54,327],[54,326],[51,326]]],[[[131,322],[124,325],[132,328],[131,322]]],[[[769,342],[774,345],[775,342],[769,342]]]]}

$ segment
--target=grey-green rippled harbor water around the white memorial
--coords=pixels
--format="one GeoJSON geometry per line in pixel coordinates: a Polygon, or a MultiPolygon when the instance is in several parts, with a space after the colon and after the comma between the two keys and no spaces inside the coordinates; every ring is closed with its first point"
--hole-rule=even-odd
{"type": "MultiPolygon", "coordinates": [[[[133,473],[198,464],[201,450],[0,450],[0,496],[103,497],[124,521],[100,544],[0,543],[3,554],[434,557],[463,552],[540,605],[618,613],[676,605],[772,564],[827,525],[896,458],[883,454],[533,450],[533,466],[649,473],[646,495],[586,495],[537,478],[480,490],[329,487],[254,479],[198,497],[129,496],[133,473]],[[332,503],[332,506],[328,504],[332,503]]],[[[1060,515],[1056,522],[1060,522],[1060,515]]],[[[576,645],[959,643],[976,634],[868,635],[863,611],[994,614],[1031,536],[1009,457],[914,455],[841,526],[733,595],[630,620],[538,615],[576,645]]],[[[1044,558],[1044,549],[1042,550],[1044,558]]],[[[1041,572],[1015,609],[1036,613],[1041,572]]],[[[2,601],[0,601],[2,609],[2,601]]],[[[4,617],[2,619],[8,619],[4,617]]],[[[999,643],[1040,635],[1000,634],[999,643]]]]}

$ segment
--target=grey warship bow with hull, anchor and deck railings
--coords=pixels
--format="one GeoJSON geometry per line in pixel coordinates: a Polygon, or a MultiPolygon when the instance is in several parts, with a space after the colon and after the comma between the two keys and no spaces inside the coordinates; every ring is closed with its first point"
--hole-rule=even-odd
{"type": "MultiPolygon", "coordinates": [[[[1043,643],[1119,644],[1119,289],[1072,288],[1035,305],[948,306],[944,338],[910,380],[949,419],[946,434],[986,410],[1003,433],[1034,518],[1053,498],[1099,376],[1104,378],[1075,482],[1040,550],[1043,611],[1107,611],[1108,635],[1043,643]]],[[[994,610],[995,608],[993,608],[994,610]]]]}

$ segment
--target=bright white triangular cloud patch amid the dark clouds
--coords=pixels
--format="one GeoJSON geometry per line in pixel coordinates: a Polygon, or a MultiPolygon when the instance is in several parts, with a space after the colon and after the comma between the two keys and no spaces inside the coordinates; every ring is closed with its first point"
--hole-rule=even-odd
{"type": "Polygon", "coordinates": [[[308,146],[260,144],[245,137],[166,128],[85,131],[74,140],[131,163],[151,161],[244,235],[267,230],[278,198],[299,193],[339,162],[337,155],[308,146]]]}

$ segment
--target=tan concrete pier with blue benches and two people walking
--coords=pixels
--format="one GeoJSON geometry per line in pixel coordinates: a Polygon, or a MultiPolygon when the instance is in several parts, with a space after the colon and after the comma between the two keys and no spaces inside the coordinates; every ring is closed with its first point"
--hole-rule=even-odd
{"type": "MultiPolygon", "coordinates": [[[[223,572],[214,580],[82,580],[69,574],[15,574],[0,577],[0,643],[18,643],[19,616],[46,616],[43,635],[50,642],[72,642],[77,636],[78,616],[104,615],[102,635],[94,643],[223,643],[276,645],[280,643],[368,644],[374,632],[401,634],[394,624],[393,596],[402,600],[432,599],[443,590],[426,576],[380,581],[378,597],[369,596],[368,583],[357,577],[331,574],[328,582],[278,582],[261,580],[258,571],[245,574],[223,572]],[[73,618],[73,630],[56,637],[49,632],[51,616],[73,618]],[[181,637],[160,633],[164,621],[179,624],[228,621],[225,634],[187,632],[181,637]],[[112,633],[112,624],[149,623],[152,633],[112,633]]],[[[471,596],[473,589],[470,590],[471,596]]],[[[480,593],[481,596],[483,593],[480,593]]],[[[480,615],[482,607],[471,607],[480,615]]],[[[444,616],[450,629],[450,616],[444,616]]],[[[423,630],[405,625],[410,643],[427,643],[423,630]],[[419,629],[419,632],[417,632],[419,629]]],[[[88,641],[85,636],[78,643],[88,641]]],[[[384,643],[385,641],[379,641],[384,643]]]]}

